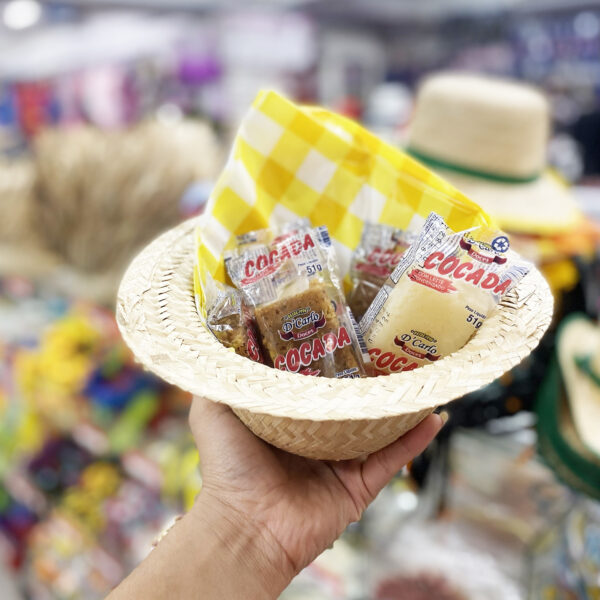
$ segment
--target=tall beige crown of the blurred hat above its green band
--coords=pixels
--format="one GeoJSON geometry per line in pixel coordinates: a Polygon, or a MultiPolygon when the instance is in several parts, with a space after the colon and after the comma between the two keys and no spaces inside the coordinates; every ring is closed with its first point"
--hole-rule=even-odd
{"type": "Polygon", "coordinates": [[[532,177],[546,164],[550,110],[534,88],[445,73],[425,80],[409,132],[414,150],[466,169],[532,177]]]}

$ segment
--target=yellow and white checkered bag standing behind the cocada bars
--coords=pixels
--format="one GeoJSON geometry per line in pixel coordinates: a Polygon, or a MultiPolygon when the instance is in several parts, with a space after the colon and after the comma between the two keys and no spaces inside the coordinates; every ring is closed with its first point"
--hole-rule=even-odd
{"type": "Polygon", "coordinates": [[[226,281],[223,252],[236,235],[306,217],[327,225],[345,274],[365,222],[406,228],[431,211],[457,231],[490,224],[477,204],[357,123],[261,92],[196,231],[199,309],[206,274],[226,281]]]}

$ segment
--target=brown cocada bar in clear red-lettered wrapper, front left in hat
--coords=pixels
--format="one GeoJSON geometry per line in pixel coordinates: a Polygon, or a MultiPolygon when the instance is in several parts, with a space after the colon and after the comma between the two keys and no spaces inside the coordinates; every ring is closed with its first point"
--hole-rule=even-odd
{"type": "Polygon", "coordinates": [[[366,375],[326,227],[299,228],[274,239],[248,232],[225,255],[229,277],[253,306],[262,344],[276,369],[303,375],[366,375]]]}

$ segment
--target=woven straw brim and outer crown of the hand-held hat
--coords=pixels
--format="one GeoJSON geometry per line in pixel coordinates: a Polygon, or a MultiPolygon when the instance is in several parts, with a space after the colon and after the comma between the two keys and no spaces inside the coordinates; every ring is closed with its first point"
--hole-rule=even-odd
{"type": "Polygon", "coordinates": [[[435,407],[490,383],[538,344],[552,295],[527,275],[460,351],[387,377],[306,377],[254,363],[204,328],[194,302],[191,219],[163,234],[131,263],[117,321],[148,369],[180,388],[228,404],[259,437],[289,452],[348,459],[389,444],[435,407]]]}

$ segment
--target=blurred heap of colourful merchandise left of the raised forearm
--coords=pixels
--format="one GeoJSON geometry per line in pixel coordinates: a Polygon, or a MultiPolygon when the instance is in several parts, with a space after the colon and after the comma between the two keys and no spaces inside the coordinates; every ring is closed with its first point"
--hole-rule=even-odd
{"type": "Polygon", "coordinates": [[[189,396],[101,307],[4,278],[0,311],[0,559],[34,600],[103,598],[200,491],[189,396]]]}

